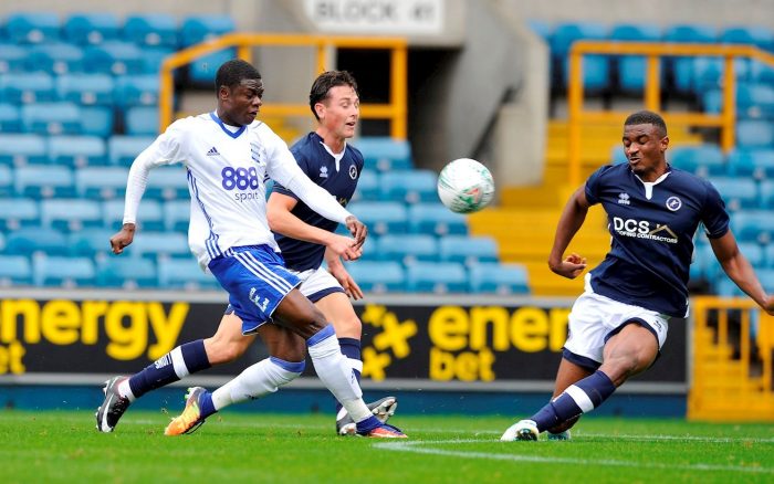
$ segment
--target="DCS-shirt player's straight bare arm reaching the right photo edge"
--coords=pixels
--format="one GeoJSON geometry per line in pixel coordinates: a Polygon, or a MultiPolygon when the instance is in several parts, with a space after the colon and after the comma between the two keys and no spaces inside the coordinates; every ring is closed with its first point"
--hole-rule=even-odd
{"type": "Polygon", "coordinates": [[[729,278],[759,306],[768,314],[774,314],[774,297],[766,294],[763,286],[761,286],[753,266],[750,265],[747,257],[739,250],[736,239],[731,230],[726,231],[724,235],[710,239],[710,245],[712,245],[712,252],[714,252],[718,262],[720,262],[729,278]]]}

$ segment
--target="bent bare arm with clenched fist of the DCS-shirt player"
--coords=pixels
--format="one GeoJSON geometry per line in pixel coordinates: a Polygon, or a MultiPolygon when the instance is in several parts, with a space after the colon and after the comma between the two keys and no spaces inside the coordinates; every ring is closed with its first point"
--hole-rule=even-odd
{"type": "Polygon", "coordinates": [[[556,227],[556,234],[554,235],[554,245],[551,248],[551,254],[548,255],[548,267],[558,275],[575,278],[586,269],[585,257],[578,254],[569,254],[565,260],[562,260],[562,256],[586,220],[589,207],[590,203],[586,199],[586,187],[583,186],[575,190],[564,206],[564,210],[562,210],[562,215],[556,227]]]}

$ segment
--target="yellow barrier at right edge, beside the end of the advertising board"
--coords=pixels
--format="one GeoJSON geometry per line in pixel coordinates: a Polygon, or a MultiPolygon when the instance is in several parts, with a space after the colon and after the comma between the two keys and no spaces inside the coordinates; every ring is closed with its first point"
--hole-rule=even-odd
{"type": "Polygon", "coordinates": [[[691,311],[688,418],[774,421],[774,317],[746,298],[697,297],[691,301],[691,311]]]}

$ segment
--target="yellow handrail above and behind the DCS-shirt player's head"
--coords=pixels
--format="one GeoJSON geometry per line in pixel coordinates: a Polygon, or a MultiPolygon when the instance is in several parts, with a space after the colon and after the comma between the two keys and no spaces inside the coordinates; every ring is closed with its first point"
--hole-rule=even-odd
{"type": "Polygon", "coordinates": [[[735,77],[733,62],[735,57],[750,57],[774,66],[774,54],[752,45],[714,45],[714,44],[673,44],[656,42],[603,42],[578,41],[569,51],[568,77],[568,165],[569,183],[580,183],[580,126],[583,123],[621,123],[628,113],[616,111],[585,111],[583,107],[583,65],[582,59],[588,54],[606,55],[644,55],[647,57],[646,84],[644,93],[645,108],[660,111],[660,60],[663,56],[722,56],[723,63],[723,107],[720,115],[702,113],[667,113],[665,119],[670,124],[689,126],[719,127],[720,145],[724,151],[734,147],[734,125],[736,123],[735,77]]]}

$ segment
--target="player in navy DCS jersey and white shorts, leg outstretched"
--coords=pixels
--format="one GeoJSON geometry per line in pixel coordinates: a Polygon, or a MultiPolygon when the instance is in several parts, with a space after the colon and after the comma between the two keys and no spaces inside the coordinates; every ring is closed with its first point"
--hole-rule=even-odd
{"type": "Polygon", "coordinates": [[[768,314],[766,294],[729,229],[725,206],[712,185],[667,164],[667,126],[656,113],[638,112],[624,124],[628,164],[605,166],[569,198],[559,218],[548,265],[577,277],[586,261],[562,260],[588,208],[602,203],[613,236],[605,260],[586,275],[569,314],[552,400],[501,440],[568,439],[577,419],[599,407],[629,377],[648,369],[667,339],[670,317],[688,315],[693,234],[703,224],[728,276],[768,314]]]}

